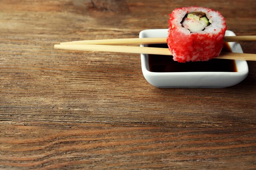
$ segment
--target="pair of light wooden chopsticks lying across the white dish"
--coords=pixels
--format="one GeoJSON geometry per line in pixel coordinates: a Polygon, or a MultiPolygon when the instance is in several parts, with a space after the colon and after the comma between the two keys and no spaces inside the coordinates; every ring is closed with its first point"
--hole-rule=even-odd
{"type": "MultiPolygon", "coordinates": [[[[224,40],[225,42],[256,41],[256,36],[225,36],[224,40]]],[[[123,38],[61,42],[60,44],[55,44],[54,49],[172,55],[167,48],[121,46],[128,44],[166,44],[166,38],[123,38]]],[[[217,58],[256,61],[256,54],[222,52],[217,58]]]]}

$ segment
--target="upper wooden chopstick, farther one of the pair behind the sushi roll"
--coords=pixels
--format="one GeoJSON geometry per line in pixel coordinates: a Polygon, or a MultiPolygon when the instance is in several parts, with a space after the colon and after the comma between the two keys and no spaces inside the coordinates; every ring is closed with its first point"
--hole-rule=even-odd
{"type": "MultiPolygon", "coordinates": [[[[250,36],[225,36],[225,42],[256,41],[256,35],[250,36]]],[[[166,38],[121,38],[106,40],[82,40],[61,42],[61,44],[104,44],[104,45],[127,45],[127,44],[164,44],[166,38]]]]}

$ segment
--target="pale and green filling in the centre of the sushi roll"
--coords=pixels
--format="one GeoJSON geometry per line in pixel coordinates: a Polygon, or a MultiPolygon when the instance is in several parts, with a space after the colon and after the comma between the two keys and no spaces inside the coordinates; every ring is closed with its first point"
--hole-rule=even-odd
{"type": "Polygon", "coordinates": [[[184,16],[182,20],[182,26],[189,29],[191,33],[197,33],[205,29],[206,26],[210,25],[212,20],[206,17],[203,12],[191,12],[184,16]]]}

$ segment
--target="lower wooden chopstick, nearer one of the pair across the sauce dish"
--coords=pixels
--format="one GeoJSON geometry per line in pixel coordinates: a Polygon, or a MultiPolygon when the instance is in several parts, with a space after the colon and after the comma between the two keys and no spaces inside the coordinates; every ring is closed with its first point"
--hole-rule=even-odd
{"type": "MultiPolygon", "coordinates": [[[[171,55],[167,48],[141,47],[141,46],[117,46],[117,45],[94,45],[94,44],[55,44],[54,49],[76,50],[76,51],[101,51],[136,54],[171,55]]],[[[256,61],[256,54],[246,53],[220,53],[218,59],[256,61]]]]}

